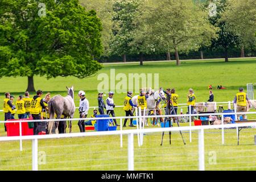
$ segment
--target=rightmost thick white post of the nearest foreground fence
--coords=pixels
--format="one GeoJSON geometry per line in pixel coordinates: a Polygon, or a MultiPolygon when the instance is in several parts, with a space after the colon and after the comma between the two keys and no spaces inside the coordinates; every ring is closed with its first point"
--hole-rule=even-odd
{"type": "Polygon", "coordinates": [[[198,131],[199,171],[204,171],[204,129],[198,131]]]}

